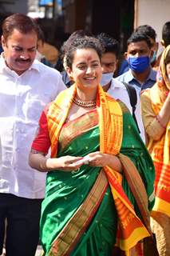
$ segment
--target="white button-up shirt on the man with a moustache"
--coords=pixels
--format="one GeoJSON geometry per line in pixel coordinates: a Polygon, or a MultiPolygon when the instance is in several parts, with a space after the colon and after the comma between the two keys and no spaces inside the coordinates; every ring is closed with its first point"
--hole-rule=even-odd
{"type": "Polygon", "coordinates": [[[45,105],[65,89],[57,70],[34,61],[22,75],[0,58],[0,137],[2,166],[0,193],[43,198],[45,173],[30,168],[30,146],[45,105]]]}

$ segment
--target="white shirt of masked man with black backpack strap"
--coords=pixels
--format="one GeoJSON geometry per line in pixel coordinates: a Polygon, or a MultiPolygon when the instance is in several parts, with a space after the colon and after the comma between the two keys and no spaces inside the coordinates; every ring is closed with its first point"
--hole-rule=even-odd
{"type": "MultiPolygon", "coordinates": [[[[121,102],[124,102],[125,105],[128,107],[128,110],[132,114],[132,106],[130,105],[130,99],[128,96],[128,91],[126,90],[126,87],[124,84],[117,79],[113,78],[111,82],[111,86],[109,87],[109,90],[107,93],[112,96],[115,99],[120,99],[121,102]]],[[[135,116],[136,121],[140,129],[140,137],[145,142],[145,136],[144,136],[144,125],[141,118],[141,108],[140,108],[140,97],[139,94],[137,94],[137,103],[136,103],[136,110],[135,110],[135,116]]]]}

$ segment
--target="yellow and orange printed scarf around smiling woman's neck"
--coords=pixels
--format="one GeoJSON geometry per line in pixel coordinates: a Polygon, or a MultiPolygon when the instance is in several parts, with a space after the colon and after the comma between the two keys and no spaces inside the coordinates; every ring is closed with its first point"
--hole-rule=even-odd
{"type": "MultiPolygon", "coordinates": [[[[76,94],[76,86],[59,94],[56,100],[49,106],[47,115],[49,126],[49,138],[51,139],[51,156],[57,156],[57,141],[65,119],[69,114],[69,109],[76,94]]],[[[99,114],[100,128],[100,150],[105,154],[117,155],[121,149],[123,136],[123,119],[121,106],[113,98],[97,87],[97,111],[99,114]]],[[[142,238],[149,236],[149,232],[136,216],[131,202],[121,186],[121,174],[105,166],[105,174],[112,190],[113,200],[117,209],[118,229],[117,246],[125,250],[128,255],[129,250],[142,238]]]]}

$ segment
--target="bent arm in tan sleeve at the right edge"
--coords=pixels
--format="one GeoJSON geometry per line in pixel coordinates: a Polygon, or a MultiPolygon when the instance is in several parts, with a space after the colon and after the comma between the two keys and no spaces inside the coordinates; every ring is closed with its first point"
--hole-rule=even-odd
{"type": "Polygon", "coordinates": [[[144,128],[149,138],[159,140],[166,129],[168,120],[170,118],[170,96],[165,100],[160,113],[156,116],[152,110],[152,102],[149,93],[146,91],[141,94],[141,111],[144,128]]]}

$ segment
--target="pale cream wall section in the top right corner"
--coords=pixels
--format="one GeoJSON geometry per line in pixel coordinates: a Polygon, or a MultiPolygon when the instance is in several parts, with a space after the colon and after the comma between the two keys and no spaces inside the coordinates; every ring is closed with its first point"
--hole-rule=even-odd
{"type": "Polygon", "coordinates": [[[136,0],[135,9],[135,28],[144,24],[152,26],[160,42],[162,27],[170,21],[170,0],[136,0]]]}

